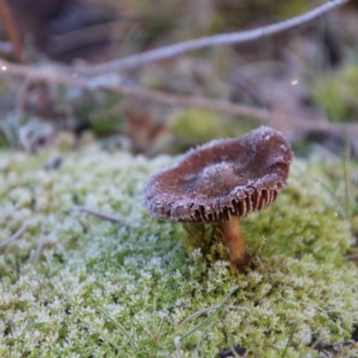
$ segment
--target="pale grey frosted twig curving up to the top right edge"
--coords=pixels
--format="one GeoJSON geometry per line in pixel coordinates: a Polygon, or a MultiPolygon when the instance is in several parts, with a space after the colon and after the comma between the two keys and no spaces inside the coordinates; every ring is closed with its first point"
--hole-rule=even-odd
{"type": "MultiPolygon", "coordinates": [[[[223,45],[243,44],[257,40],[259,38],[267,38],[277,33],[292,30],[298,26],[302,26],[308,22],[316,20],[320,16],[331,12],[343,4],[348,3],[349,0],[334,0],[328,1],[315,9],[303,13],[303,15],[296,16],[292,19],[277,22],[259,29],[232,32],[203,38],[196,38],[188,41],[179,42],[174,45],[160,47],[158,49],[149,50],[137,55],[129,55],[118,60],[110,61],[104,64],[90,65],[87,67],[76,67],[75,71],[86,76],[95,76],[98,74],[108,72],[118,72],[140,67],[144,64],[151,64],[154,62],[173,58],[177,55],[183,55],[186,52],[198,50],[205,47],[217,47],[223,45]]],[[[72,68],[69,69],[71,72],[72,68]]]]}

